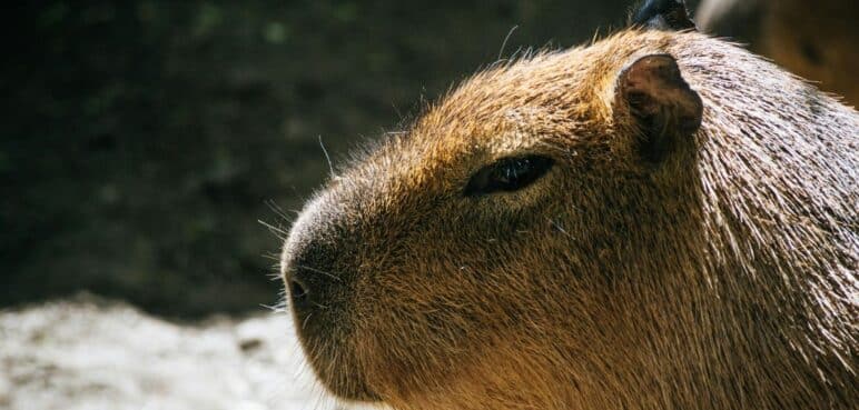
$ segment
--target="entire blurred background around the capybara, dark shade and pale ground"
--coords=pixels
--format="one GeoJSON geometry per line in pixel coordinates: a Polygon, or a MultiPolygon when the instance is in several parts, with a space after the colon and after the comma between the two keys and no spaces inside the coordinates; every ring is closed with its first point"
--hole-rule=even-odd
{"type": "MultiPolygon", "coordinates": [[[[264,308],[282,241],[259,221],[288,230],[327,177],[320,141],[338,162],[500,57],[625,26],[631,3],[7,6],[0,409],[330,409],[264,308]]],[[[687,3],[859,101],[859,2],[687,3]]]]}

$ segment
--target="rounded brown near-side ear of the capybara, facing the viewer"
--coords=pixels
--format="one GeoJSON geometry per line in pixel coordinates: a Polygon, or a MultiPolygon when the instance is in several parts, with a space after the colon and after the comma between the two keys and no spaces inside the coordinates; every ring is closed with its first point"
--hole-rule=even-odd
{"type": "Polygon", "coordinates": [[[673,57],[651,54],[624,68],[618,78],[614,112],[638,128],[635,149],[658,162],[701,127],[701,97],[689,87],[673,57]]]}

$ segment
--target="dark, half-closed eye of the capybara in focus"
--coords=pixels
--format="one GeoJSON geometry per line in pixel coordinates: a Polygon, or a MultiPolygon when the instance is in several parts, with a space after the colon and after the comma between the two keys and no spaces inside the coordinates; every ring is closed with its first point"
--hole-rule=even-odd
{"type": "Polygon", "coordinates": [[[529,156],[504,158],[483,167],[465,187],[466,197],[495,192],[512,192],[525,188],[543,177],[554,161],[549,157],[529,156]]]}

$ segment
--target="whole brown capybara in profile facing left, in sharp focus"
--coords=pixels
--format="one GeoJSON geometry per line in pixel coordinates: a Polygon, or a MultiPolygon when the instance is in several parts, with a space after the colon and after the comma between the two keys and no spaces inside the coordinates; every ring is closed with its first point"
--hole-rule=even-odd
{"type": "Polygon", "coordinates": [[[402,410],[856,409],[859,116],[693,27],[649,1],[337,172],[282,261],[320,382],[402,410]]]}

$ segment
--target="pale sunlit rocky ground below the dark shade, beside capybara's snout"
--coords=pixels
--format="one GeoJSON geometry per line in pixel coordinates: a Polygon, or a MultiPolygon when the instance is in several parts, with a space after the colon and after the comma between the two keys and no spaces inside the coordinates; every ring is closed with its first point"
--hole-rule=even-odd
{"type": "Polygon", "coordinates": [[[0,409],[332,410],[288,314],[179,324],[77,297],[0,312],[0,409]]]}

